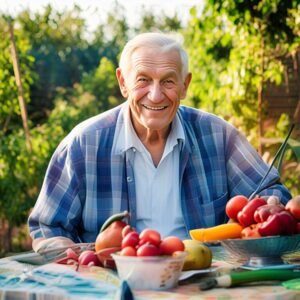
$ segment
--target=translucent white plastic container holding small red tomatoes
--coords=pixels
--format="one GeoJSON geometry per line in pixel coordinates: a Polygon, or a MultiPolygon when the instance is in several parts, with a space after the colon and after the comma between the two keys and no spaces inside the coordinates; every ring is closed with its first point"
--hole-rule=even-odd
{"type": "Polygon", "coordinates": [[[121,256],[112,254],[118,275],[136,290],[166,290],[176,287],[186,252],[173,256],[121,256]]]}

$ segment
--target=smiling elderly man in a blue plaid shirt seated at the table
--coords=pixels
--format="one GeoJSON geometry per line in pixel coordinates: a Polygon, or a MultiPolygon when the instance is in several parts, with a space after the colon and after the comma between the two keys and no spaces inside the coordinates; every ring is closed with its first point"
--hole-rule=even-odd
{"type": "MultiPolygon", "coordinates": [[[[93,242],[112,214],[138,231],[188,238],[227,222],[225,206],[249,196],[268,169],[233,126],[180,105],[192,75],[179,42],[162,33],[130,40],[116,70],[120,106],[75,127],[55,151],[29,216],[33,248],[93,242]]],[[[273,169],[261,195],[291,198],[273,169]]]]}

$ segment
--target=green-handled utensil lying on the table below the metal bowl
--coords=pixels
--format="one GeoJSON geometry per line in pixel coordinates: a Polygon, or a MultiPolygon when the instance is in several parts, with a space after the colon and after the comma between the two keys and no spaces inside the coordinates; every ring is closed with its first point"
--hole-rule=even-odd
{"type": "Polygon", "coordinates": [[[214,287],[232,287],[240,284],[260,281],[286,281],[300,278],[300,270],[267,269],[231,272],[214,278],[207,278],[200,282],[201,290],[214,287]]]}

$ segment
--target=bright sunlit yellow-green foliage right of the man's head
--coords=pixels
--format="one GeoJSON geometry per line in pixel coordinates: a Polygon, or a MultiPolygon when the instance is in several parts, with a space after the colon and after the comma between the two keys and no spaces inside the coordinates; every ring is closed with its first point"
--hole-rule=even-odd
{"type": "Polygon", "coordinates": [[[281,83],[281,58],[299,48],[297,16],[297,1],[207,1],[200,16],[194,7],[183,30],[194,76],[186,102],[229,120],[261,150],[263,90],[281,83]]]}

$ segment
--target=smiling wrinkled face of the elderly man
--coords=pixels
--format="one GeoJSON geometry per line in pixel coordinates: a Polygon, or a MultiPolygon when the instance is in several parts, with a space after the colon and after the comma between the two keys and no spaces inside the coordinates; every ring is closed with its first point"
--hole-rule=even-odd
{"type": "Polygon", "coordinates": [[[127,69],[117,69],[117,77],[123,96],[129,100],[137,134],[168,132],[191,80],[190,74],[182,78],[178,51],[140,47],[131,55],[127,69]]]}

